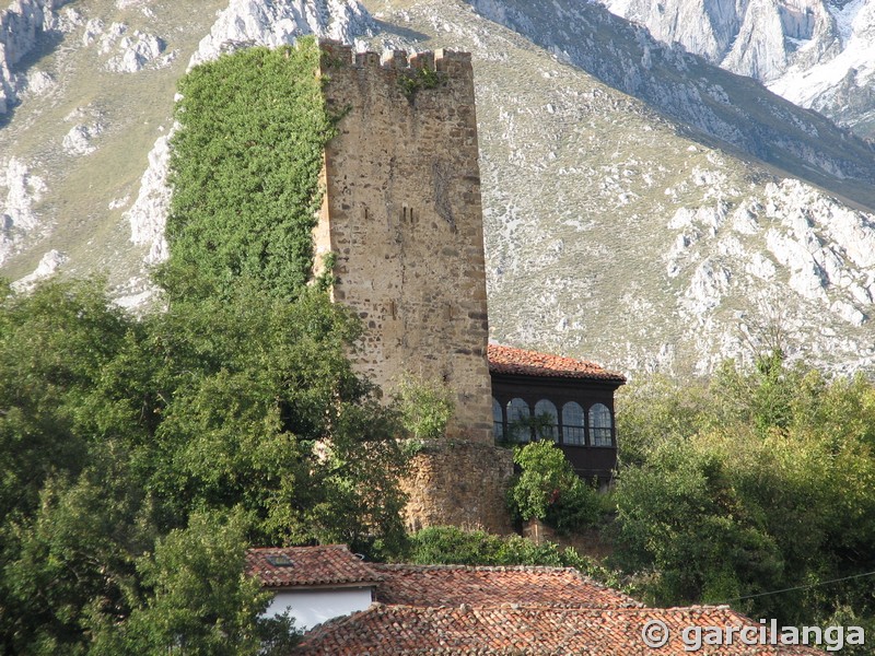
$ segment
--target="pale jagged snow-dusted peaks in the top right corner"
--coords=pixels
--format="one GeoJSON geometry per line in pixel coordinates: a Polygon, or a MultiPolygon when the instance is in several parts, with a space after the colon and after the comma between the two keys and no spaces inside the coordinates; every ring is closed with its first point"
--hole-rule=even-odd
{"type": "Polygon", "coordinates": [[[861,136],[875,134],[871,0],[603,0],[663,43],[749,75],[861,136]]]}

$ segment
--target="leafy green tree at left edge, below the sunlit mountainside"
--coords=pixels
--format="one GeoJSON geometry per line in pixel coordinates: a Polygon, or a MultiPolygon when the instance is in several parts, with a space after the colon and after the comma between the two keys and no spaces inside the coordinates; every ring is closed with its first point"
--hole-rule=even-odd
{"type": "Polygon", "coordinates": [[[0,297],[0,517],[33,511],[47,478],[80,471],[112,430],[95,425],[93,391],[129,326],[107,306],[88,282],[0,297]]]}

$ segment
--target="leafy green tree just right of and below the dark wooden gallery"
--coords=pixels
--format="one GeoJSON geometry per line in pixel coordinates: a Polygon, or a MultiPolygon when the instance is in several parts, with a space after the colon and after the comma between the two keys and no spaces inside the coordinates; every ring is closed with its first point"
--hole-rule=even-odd
{"type": "MultiPolygon", "coordinates": [[[[780,584],[780,550],[758,507],[738,499],[722,454],[708,444],[666,442],[617,487],[620,562],[652,566],[657,605],[721,601],[742,594],[739,577],[780,584]]],[[[747,591],[747,590],[745,590],[747,591]]]]}

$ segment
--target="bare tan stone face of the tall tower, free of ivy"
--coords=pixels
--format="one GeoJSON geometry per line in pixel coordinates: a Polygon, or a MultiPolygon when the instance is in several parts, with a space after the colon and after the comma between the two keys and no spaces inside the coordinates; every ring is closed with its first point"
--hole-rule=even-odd
{"type": "Polygon", "coordinates": [[[353,363],[387,390],[406,373],[444,380],[456,394],[448,436],[491,444],[470,55],[381,62],[322,48],[326,102],[343,118],[326,147],[314,236],[317,262],[337,257],[335,300],[366,327],[353,363]]]}

